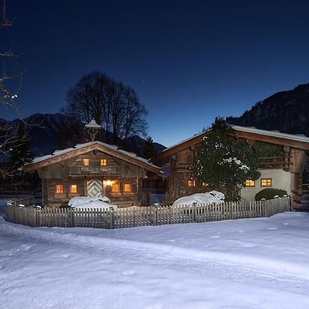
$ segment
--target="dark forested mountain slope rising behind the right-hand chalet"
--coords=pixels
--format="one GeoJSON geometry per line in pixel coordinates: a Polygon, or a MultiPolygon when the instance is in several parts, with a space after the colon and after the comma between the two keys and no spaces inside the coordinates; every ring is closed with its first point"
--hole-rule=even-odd
{"type": "Polygon", "coordinates": [[[309,84],[275,93],[257,102],[240,117],[227,117],[227,122],[309,137],[309,84]]]}

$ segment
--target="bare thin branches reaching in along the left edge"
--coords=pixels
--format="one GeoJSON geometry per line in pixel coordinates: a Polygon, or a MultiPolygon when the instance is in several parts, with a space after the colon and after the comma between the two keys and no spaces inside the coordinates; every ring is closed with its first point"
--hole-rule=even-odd
{"type": "MultiPolygon", "coordinates": [[[[0,30],[4,31],[5,28],[11,27],[14,23],[14,19],[9,19],[6,14],[5,0],[1,0],[1,13],[0,30]]],[[[14,53],[13,47],[14,45],[11,44],[5,50],[0,51],[0,108],[10,108],[19,115],[15,100],[21,89],[24,71],[18,72],[14,66],[14,59],[19,55],[14,53]]],[[[6,161],[5,158],[10,157],[10,150],[12,145],[16,143],[16,139],[18,139],[16,128],[8,126],[5,122],[0,122],[0,157],[2,157],[2,161],[6,161]]],[[[5,178],[13,174],[14,168],[10,164],[3,162],[0,164],[0,177],[5,178]]]]}

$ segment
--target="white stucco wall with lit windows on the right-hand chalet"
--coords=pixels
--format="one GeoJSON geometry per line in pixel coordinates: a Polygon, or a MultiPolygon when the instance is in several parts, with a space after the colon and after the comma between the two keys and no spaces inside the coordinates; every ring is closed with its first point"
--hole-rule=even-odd
{"type": "Polygon", "coordinates": [[[284,170],[259,170],[261,176],[255,181],[255,187],[244,187],[241,190],[240,196],[246,201],[254,201],[255,194],[268,187],[261,187],[261,179],[271,178],[274,189],[283,189],[290,194],[294,183],[294,174],[285,172],[284,170]]]}

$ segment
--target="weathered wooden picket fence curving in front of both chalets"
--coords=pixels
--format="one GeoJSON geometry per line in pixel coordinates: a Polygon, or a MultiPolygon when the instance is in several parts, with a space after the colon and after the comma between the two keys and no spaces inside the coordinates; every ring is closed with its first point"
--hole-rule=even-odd
{"type": "Polygon", "coordinates": [[[9,205],[6,218],[30,227],[96,227],[117,229],[146,225],[208,222],[259,218],[290,211],[290,198],[221,204],[194,204],[178,207],[128,207],[113,209],[70,209],[18,207],[9,205]]]}

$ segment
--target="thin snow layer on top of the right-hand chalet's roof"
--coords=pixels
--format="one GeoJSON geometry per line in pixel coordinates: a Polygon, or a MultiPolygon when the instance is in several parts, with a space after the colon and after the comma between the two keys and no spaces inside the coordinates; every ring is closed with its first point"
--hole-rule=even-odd
{"type": "MultiPolygon", "coordinates": [[[[288,133],[281,133],[278,130],[262,130],[262,129],[258,129],[255,128],[254,126],[234,126],[231,125],[231,127],[233,128],[233,130],[236,131],[241,131],[241,132],[246,132],[246,133],[253,133],[253,134],[259,134],[259,135],[266,135],[266,136],[270,136],[270,137],[277,137],[277,138],[282,138],[282,139],[288,139],[290,141],[301,141],[303,143],[308,143],[309,144],[309,137],[306,137],[306,135],[303,134],[288,134],[288,133]]],[[[187,141],[190,141],[191,139],[196,139],[198,137],[203,137],[203,135],[205,135],[205,133],[211,131],[211,129],[204,131],[198,135],[194,135],[193,137],[190,137],[188,139],[185,139],[173,146],[170,146],[168,148],[165,148],[161,153],[163,154],[164,152],[168,152],[168,150],[171,150],[172,148],[179,146],[181,144],[185,144],[187,141]]]]}

